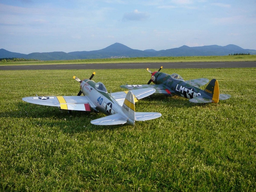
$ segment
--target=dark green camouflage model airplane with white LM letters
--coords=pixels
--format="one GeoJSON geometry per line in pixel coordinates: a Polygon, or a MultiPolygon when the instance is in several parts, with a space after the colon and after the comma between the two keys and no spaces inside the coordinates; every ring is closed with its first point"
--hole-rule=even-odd
{"type": "Polygon", "coordinates": [[[152,73],[148,68],[148,72],[151,73],[151,79],[146,85],[121,85],[122,88],[135,90],[142,88],[154,88],[155,93],[163,93],[168,96],[181,96],[189,99],[194,103],[218,103],[219,100],[229,99],[231,96],[228,94],[220,94],[219,84],[216,79],[212,79],[204,90],[199,89],[209,82],[206,78],[193,79],[184,81],[183,78],[173,73],[172,75],[162,73],[160,70],[152,73]],[[150,84],[151,82],[154,83],[150,84]]]}

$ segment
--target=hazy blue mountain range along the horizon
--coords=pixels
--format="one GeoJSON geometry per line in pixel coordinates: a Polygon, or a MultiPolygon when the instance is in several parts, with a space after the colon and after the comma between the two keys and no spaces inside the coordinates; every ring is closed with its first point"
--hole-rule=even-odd
{"type": "Polygon", "coordinates": [[[102,59],[102,58],[122,58],[122,57],[177,57],[177,56],[212,56],[228,55],[234,53],[256,54],[256,50],[243,49],[237,45],[226,46],[207,45],[199,47],[188,47],[183,45],[179,48],[156,51],[147,49],[144,51],[132,49],[126,45],[115,43],[104,49],[96,51],[76,51],[76,52],[43,52],[43,53],[15,53],[5,49],[0,49],[0,58],[24,58],[39,60],[74,60],[74,59],[102,59]]]}

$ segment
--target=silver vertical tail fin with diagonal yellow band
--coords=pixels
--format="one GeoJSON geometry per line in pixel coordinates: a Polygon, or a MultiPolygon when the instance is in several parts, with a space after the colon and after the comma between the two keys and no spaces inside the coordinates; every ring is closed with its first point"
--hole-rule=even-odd
{"type": "Polygon", "coordinates": [[[135,124],[135,105],[134,105],[134,98],[131,91],[128,91],[124,104],[122,107],[124,114],[129,118],[128,124],[134,125],[135,124]]]}

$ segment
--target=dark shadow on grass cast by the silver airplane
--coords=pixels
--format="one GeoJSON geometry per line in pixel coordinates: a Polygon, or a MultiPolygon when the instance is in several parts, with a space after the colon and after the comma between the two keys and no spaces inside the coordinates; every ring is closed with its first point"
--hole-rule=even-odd
{"type": "MultiPolygon", "coordinates": [[[[59,110],[49,106],[41,107],[25,102],[17,103],[17,109],[0,113],[0,117],[13,118],[12,121],[16,121],[19,118],[24,121],[28,118],[26,121],[30,121],[30,124],[34,127],[60,127],[66,133],[115,130],[129,126],[129,124],[94,126],[90,121],[95,117],[102,117],[102,114],[96,111],[72,111],[72,113],[68,113],[67,110],[59,110]]],[[[22,123],[20,126],[22,126],[22,123]]]]}

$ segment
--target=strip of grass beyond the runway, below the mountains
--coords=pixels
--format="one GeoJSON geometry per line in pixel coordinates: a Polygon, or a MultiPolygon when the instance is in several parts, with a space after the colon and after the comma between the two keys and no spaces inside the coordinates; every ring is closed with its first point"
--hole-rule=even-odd
{"type": "Polygon", "coordinates": [[[120,59],[80,59],[52,61],[0,62],[0,65],[51,65],[51,64],[84,64],[84,63],[145,63],[145,62],[208,62],[208,61],[256,61],[256,55],[226,56],[184,56],[184,57],[140,57],[120,59]]]}

